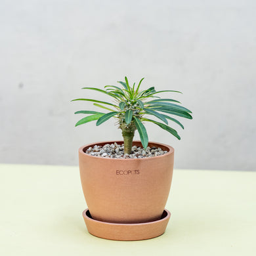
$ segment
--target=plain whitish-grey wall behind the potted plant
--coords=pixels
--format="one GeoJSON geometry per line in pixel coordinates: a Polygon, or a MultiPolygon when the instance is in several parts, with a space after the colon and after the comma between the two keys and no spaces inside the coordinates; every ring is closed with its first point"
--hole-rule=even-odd
{"type": "Polygon", "coordinates": [[[148,125],[175,167],[255,171],[255,13],[249,0],[1,1],[0,162],[77,165],[79,146],[121,139],[112,121],[74,127],[92,104],[70,100],[106,100],[81,87],[127,75],[193,111],[173,125],[180,141],[148,125]]]}

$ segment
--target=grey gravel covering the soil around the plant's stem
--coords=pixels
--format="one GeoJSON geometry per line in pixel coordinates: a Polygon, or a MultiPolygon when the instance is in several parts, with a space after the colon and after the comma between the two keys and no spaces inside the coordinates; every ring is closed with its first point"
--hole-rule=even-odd
{"type": "Polygon", "coordinates": [[[116,142],[112,144],[105,144],[104,146],[95,145],[86,150],[87,154],[90,156],[98,156],[100,158],[152,158],[153,156],[161,156],[167,151],[161,148],[149,146],[144,150],[137,146],[131,148],[131,154],[124,154],[123,144],[117,144],[116,142]]]}

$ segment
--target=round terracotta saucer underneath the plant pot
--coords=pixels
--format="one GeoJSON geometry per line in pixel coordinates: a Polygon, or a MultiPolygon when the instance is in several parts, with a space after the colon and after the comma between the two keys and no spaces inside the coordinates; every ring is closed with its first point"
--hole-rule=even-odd
{"type": "Polygon", "coordinates": [[[99,238],[119,241],[135,241],[156,238],[165,232],[171,213],[165,209],[159,221],[149,223],[121,224],[96,221],[89,209],[83,211],[83,219],[90,234],[99,238]]]}

